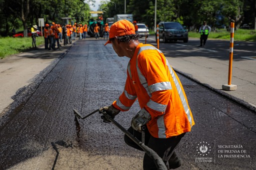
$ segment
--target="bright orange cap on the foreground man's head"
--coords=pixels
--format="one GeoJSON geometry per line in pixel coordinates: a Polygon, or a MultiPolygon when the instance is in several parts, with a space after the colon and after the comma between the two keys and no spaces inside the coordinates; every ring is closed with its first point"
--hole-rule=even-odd
{"type": "MultiPolygon", "coordinates": [[[[123,36],[130,34],[135,34],[135,28],[134,25],[126,19],[114,22],[109,29],[109,39],[113,38],[114,36],[123,36]]],[[[104,45],[111,44],[111,41],[109,39],[104,45]]]]}

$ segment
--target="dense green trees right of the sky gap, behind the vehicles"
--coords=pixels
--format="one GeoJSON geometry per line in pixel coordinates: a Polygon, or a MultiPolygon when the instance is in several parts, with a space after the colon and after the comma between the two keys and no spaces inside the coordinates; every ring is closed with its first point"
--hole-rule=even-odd
{"type": "Polygon", "coordinates": [[[231,20],[236,29],[242,24],[254,26],[256,16],[256,0],[102,0],[99,10],[105,11],[104,17],[113,17],[124,13],[124,1],[126,13],[149,28],[154,26],[155,1],[156,23],[179,21],[191,31],[203,20],[213,29],[228,27],[231,20]]]}

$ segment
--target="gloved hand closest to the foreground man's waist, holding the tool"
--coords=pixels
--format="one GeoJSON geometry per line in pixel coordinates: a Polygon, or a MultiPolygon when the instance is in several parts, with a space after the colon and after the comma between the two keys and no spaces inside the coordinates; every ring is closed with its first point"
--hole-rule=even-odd
{"type": "Polygon", "coordinates": [[[142,126],[144,126],[148,121],[150,121],[150,114],[141,109],[132,119],[131,119],[131,127],[138,131],[142,132],[142,126]]]}

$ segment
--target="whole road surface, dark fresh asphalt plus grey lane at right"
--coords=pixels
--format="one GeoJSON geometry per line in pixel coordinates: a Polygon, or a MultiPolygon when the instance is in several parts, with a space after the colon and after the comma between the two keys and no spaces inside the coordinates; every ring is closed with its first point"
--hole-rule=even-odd
{"type": "MultiPolygon", "coordinates": [[[[25,97],[25,100],[14,101],[13,107],[1,120],[0,168],[67,169],[69,166],[71,169],[89,170],[100,167],[95,155],[101,155],[104,159],[99,169],[142,169],[138,160],[142,159],[143,153],[124,145],[122,134],[117,130],[113,132],[115,128],[112,126],[99,123],[101,121],[97,115],[88,119],[89,124],[87,121],[80,122],[83,131],[77,139],[72,108],[83,113],[93,111],[98,106],[110,104],[123,90],[128,60],[117,57],[111,45],[104,47],[103,42],[94,38],[75,42],[68,52],[57,58],[57,62],[53,60],[55,62],[50,64],[50,68],[41,72],[43,78],[36,79],[24,88],[26,90],[19,95],[19,99],[25,97]],[[56,153],[67,156],[69,161],[55,157],[56,153]],[[117,158],[113,157],[115,155],[117,158]],[[130,160],[131,157],[135,160],[130,160]],[[120,158],[125,158],[126,162],[120,161],[120,158]],[[109,160],[113,162],[109,163],[109,160]],[[121,164],[115,165],[114,162],[121,164]],[[131,163],[134,167],[129,167],[131,163]]],[[[155,45],[153,37],[148,37],[147,42],[155,45]]],[[[245,48],[250,47],[251,43],[237,51],[243,51],[246,57],[252,59],[234,56],[237,64],[241,62],[244,65],[235,67],[235,70],[240,69],[242,76],[235,74],[232,79],[239,91],[225,92],[221,90],[221,84],[227,82],[227,68],[224,66],[228,64],[221,51],[228,52],[224,48],[228,42],[209,40],[207,48],[198,48],[197,43],[198,39],[189,40],[188,43],[160,42],[160,50],[180,73],[178,75],[195,119],[192,132],[187,133],[177,148],[179,157],[184,160],[180,170],[253,169],[255,97],[248,99],[249,102],[244,99],[255,94],[255,69],[252,67],[255,52],[245,48]],[[222,45],[217,48],[219,43],[222,45]],[[208,47],[210,45],[213,47],[208,47]],[[201,146],[208,148],[205,154],[200,151],[201,146]],[[225,146],[237,148],[228,149],[225,146]],[[242,154],[246,158],[224,158],[230,155],[238,157],[238,154],[227,154],[230,151],[246,152],[242,154]],[[211,162],[198,161],[203,159],[211,162]]],[[[138,105],[135,104],[128,113],[117,116],[116,120],[128,127],[129,120],[137,110],[138,105]]]]}

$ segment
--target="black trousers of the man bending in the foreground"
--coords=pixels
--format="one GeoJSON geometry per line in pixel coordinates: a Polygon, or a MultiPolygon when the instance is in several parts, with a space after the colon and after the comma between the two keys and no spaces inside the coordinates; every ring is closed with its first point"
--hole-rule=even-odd
{"type": "MultiPolygon", "coordinates": [[[[128,129],[128,132],[131,133],[134,137],[136,137],[139,141],[141,141],[141,133],[133,130],[132,127],[128,129]]],[[[165,166],[169,170],[178,161],[178,158],[174,150],[184,135],[185,133],[167,139],[154,138],[150,135],[146,128],[145,145],[152,149],[154,152],[156,152],[160,158],[162,158],[165,166]]],[[[124,135],[124,142],[137,150],[143,151],[126,135],[124,135]]],[[[156,170],[154,162],[147,154],[144,155],[143,170],[156,170]]]]}

